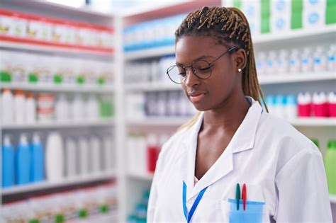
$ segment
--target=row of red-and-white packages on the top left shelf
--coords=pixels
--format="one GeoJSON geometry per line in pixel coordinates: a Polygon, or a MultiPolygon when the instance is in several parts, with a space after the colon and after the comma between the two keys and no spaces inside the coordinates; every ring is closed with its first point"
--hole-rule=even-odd
{"type": "Polygon", "coordinates": [[[113,47],[113,28],[0,10],[1,35],[62,45],[113,47]]]}

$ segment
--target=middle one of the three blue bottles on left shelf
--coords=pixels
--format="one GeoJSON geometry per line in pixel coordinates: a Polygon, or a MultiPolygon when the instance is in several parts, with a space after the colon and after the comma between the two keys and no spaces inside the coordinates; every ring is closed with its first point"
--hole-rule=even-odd
{"type": "Polygon", "coordinates": [[[16,150],[16,183],[18,185],[30,181],[30,149],[26,135],[20,136],[18,149],[16,150]]]}

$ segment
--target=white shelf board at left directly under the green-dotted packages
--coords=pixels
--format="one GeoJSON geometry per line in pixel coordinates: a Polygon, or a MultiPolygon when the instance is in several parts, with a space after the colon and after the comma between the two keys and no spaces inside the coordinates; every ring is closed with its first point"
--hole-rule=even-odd
{"type": "Polygon", "coordinates": [[[23,91],[46,91],[46,92],[68,92],[68,93],[113,93],[112,86],[65,86],[56,84],[16,84],[1,83],[0,89],[20,89],[23,91]]]}

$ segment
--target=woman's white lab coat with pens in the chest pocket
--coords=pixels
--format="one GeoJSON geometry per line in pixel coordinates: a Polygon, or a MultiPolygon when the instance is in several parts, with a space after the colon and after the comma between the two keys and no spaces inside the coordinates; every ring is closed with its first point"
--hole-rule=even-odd
{"type": "MultiPolygon", "coordinates": [[[[233,139],[215,164],[194,185],[198,131],[203,114],[162,147],[152,181],[147,222],[186,222],[208,186],[191,222],[229,222],[229,198],[237,183],[247,185],[247,200],[264,202],[263,222],[332,222],[323,158],[315,144],[284,120],[252,103],[233,139]]],[[[211,147],[212,145],[209,145],[211,147]]],[[[215,145],[213,145],[215,146],[215,145]]]]}

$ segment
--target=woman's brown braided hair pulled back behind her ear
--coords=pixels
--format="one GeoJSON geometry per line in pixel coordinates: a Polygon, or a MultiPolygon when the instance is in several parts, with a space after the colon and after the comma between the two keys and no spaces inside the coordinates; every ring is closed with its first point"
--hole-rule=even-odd
{"type": "MultiPolygon", "coordinates": [[[[233,43],[247,54],[247,64],[242,69],[242,91],[246,96],[251,96],[255,101],[264,103],[264,94],[257,79],[257,69],[255,67],[254,50],[250,32],[250,25],[244,13],[237,8],[225,7],[203,7],[191,12],[184,18],[179,28],[175,32],[175,41],[178,42],[184,36],[203,35],[215,38],[219,45],[230,47],[233,43]]],[[[197,115],[185,125],[190,127],[198,119],[197,115]]]]}

